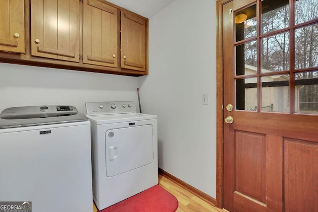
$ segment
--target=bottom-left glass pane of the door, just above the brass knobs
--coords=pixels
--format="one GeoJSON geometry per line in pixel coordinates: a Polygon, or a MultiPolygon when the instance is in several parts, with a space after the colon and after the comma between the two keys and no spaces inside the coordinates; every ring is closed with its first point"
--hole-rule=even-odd
{"type": "Polygon", "coordinates": [[[245,78],[236,80],[237,110],[257,109],[257,78],[245,78]]]}

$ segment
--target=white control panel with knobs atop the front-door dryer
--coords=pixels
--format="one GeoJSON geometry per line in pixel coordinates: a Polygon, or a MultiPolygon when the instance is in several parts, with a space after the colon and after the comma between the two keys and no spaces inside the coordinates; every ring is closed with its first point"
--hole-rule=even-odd
{"type": "Polygon", "coordinates": [[[106,115],[121,113],[136,113],[135,102],[86,102],[86,114],[106,115]]]}

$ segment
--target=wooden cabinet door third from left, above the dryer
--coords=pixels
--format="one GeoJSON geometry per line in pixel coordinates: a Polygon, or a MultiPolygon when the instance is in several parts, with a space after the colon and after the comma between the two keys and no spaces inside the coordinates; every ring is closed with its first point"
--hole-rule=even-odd
{"type": "Polygon", "coordinates": [[[83,63],[118,67],[118,11],[99,0],[84,0],[83,63]]]}

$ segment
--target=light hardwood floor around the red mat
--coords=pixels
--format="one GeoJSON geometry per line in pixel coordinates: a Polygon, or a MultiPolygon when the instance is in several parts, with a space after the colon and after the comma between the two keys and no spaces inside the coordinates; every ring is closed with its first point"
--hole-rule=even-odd
{"type": "MultiPolygon", "coordinates": [[[[176,212],[226,212],[206,203],[161,174],[158,175],[158,179],[159,186],[177,198],[179,206],[176,212]]],[[[94,203],[93,212],[97,212],[94,203]]]]}

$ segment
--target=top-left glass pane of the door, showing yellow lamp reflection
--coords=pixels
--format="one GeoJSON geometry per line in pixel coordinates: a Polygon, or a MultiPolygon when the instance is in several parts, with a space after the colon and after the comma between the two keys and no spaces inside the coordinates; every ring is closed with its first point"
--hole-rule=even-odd
{"type": "Polygon", "coordinates": [[[256,4],[235,13],[236,41],[256,36],[256,4]]]}

